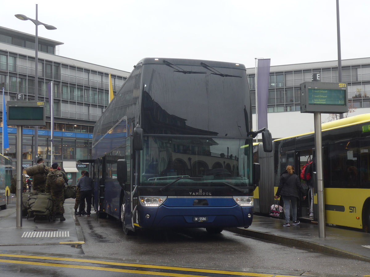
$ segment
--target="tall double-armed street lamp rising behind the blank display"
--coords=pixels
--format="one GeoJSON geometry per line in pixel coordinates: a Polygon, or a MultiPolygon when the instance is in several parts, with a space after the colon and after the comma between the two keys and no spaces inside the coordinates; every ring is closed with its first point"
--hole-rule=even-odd
{"type": "MultiPolygon", "coordinates": [[[[48,25],[45,23],[42,23],[38,21],[37,19],[37,4],[36,4],[36,19],[29,18],[25,16],[24,14],[15,14],[15,17],[17,17],[20,20],[30,20],[33,22],[33,24],[36,25],[36,35],[35,35],[35,101],[38,101],[38,35],[37,35],[37,26],[38,25],[44,25],[47,30],[55,30],[56,28],[53,25],[48,25]]],[[[54,128],[54,126],[51,126],[51,128],[54,128]]],[[[36,164],[37,157],[38,157],[38,126],[35,126],[35,141],[34,141],[34,154],[35,159],[34,162],[36,164]]]]}

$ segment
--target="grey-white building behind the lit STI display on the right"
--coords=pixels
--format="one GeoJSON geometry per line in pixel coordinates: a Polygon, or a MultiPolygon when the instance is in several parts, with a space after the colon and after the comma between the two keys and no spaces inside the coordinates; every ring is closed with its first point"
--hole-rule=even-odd
{"type": "MultiPolygon", "coordinates": [[[[311,113],[300,113],[300,83],[311,81],[312,73],[320,73],[322,82],[339,82],[338,61],[270,67],[268,91],[268,129],[274,138],[288,137],[314,130],[311,113]]],[[[256,130],[255,68],[247,68],[252,97],[253,129],[256,130]]],[[[342,80],[347,83],[351,112],[348,116],[370,113],[370,58],[342,60],[342,80]]],[[[347,114],[344,114],[346,116],[347,114]]],[[[322,122],[330,114],[322,113],[322,122]]]]}

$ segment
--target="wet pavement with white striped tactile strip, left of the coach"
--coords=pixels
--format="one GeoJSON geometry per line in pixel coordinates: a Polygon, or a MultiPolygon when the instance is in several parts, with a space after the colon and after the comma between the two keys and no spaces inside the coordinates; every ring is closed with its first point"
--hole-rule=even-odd
{"type": "Polygon", "coordinates": [[[73,203],[67,199],[64,203],[65,221],[27,219],[22,217],[22,226],[17,227],[16,205],[0,211],[0,246],[43,245],[43,244],[82,244],[84,243],[80,223],[74,215],[73,203]],[[71,203],[69,203],[71,202],[71,203]]]}

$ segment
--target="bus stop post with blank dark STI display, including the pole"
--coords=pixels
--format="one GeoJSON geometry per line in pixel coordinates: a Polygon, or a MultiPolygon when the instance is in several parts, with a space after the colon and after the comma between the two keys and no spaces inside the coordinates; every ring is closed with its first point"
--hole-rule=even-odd
{"type": "MultiPolygon", "coordinates": [[[[44,102],[38,101],[8,101],[7,102],[8,125],[17,126],[17,201],[16,222],[17,227],[22,227],[22,194],[23,194],[23,172],[22,172],[22,138],[23,126],[45,126],[46,115],[44,102]]],[[[37,153],[35,153],[36,155],[37,153]]]]}

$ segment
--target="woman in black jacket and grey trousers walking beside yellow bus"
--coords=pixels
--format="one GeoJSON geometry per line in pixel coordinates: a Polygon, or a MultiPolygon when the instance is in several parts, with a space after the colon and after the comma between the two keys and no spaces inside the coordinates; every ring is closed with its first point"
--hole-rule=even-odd
{"type": "MultiPolygon", "coordinates": [[[[290,204],[292,204],[293,225],[298,225],[297,220],[297,199],[299,198],[298,189],[304,194],[305,189],[302,187],[298,175],[294,174],[292,165],[288,165],[286,170],[280,175],[279,187],[277,188],[275,199],[282,196],[284,202],[284,214],[286,223],[283,226],[290,226],[290,204]]],[[[303,196],[303,200],[306,196],[303,196]]]]}

